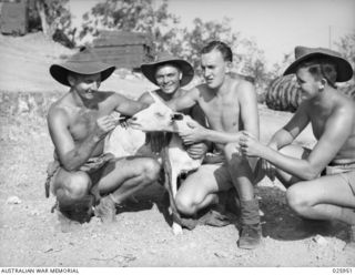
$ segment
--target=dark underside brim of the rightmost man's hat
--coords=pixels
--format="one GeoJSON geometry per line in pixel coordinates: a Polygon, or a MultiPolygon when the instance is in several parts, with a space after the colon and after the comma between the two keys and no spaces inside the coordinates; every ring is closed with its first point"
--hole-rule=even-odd
{"type": "Polygon", "coordinates": [[[306,54],[302,58],[298,58],[295,60],[291,65],[287,67],[287,69],[284,72],[284,75],[291,74],[291,73],[296,73],[300,64],[306,60],[314,59],[314,58],[328,58],[336,64],[336,82],[345,82],[348,81],[353,78],[353,68],[349,62],[347,62],[343,58],[325,54],[325,53],[320,53],[320,52],[314,52],[306,54]]]}

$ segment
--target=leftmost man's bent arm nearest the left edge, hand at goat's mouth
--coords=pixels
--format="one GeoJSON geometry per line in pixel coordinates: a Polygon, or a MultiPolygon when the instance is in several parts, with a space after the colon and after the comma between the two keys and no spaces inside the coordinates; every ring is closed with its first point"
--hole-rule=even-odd
{"type": "Polygon", "coordinates": [[[108,116],[100,119],[99,123],[103,125],[102,129],[95,126],[95,131],[92,131],[80,144],[75,144],[69,131],[69,118],[65,111],[59,108],[49,111],[49,132],[60,163],[67,171],[77,171],[83,165],[105,133],[114,128],[113,123],[105,120],[108,116]]]}

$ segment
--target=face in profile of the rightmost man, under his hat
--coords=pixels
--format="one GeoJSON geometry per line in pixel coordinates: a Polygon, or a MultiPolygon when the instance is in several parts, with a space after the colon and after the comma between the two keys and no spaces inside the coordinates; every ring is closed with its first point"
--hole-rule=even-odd
{"type": "Polygon", "coordinates": [[[316,80],[308,68],[300,68],[296,72],[297,84],[302,91],[302,99],[310,100],[320,94],[321,80],[316,80]]]}

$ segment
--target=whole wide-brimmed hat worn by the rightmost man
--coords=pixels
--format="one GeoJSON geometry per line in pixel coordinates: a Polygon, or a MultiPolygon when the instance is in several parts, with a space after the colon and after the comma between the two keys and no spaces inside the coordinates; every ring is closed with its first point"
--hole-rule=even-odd
{"type": "Polygon", "coordinates": [[[310,59],[327,58],[336,65],[336,82],[348,81],[353,77],[351,63],[343,59],[341,53],[325,48],[307,48],[297,45],[295,48],[296,60],[285,70],[284,75],[295,73],[298,65],[310,59]]]}

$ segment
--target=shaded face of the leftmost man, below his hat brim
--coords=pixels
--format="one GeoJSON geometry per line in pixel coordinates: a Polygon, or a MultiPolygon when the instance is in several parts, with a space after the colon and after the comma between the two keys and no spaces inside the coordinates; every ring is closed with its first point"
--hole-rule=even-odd
{"type": "Polygon", "coordinates": [[[92,100],[101,84],[101,74],[70,74],[68,81],[80,98],[92,100]]]}

